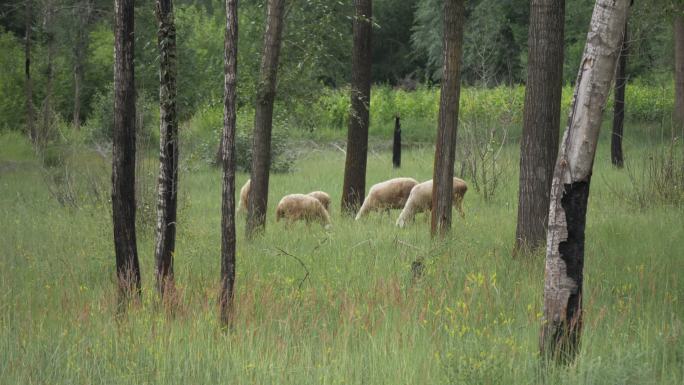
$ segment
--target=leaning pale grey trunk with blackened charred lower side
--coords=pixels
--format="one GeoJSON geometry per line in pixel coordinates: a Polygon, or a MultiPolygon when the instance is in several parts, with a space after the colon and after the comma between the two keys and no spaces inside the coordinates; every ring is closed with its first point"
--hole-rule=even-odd
{"type": "Polygon", "coordinates": [[[589,183],[628,8],[628,0],[596,2],[553,173],[540,350],[561,361],[572,359],[579,347],[589,183]]]}

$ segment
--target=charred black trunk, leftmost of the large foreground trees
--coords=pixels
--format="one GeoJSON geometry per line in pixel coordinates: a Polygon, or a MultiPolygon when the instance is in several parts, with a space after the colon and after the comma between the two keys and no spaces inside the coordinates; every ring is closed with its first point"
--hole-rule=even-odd
{"type": "Polygon", "coordinates": [[[120,304],[140,294],[135,236],[134,0],[115,0],[114,132],[112,135],[112,217],[120,304]]]}

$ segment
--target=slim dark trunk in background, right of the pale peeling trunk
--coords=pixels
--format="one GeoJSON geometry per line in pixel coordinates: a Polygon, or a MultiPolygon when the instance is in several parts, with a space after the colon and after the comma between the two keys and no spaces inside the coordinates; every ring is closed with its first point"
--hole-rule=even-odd
{"type": "Polygon", "coordinates": [[[625,122],[625,89],[627,88],[627,54],[629,49],[627,23],[622,39],[622,48],[618,67],[615,71],[615,101],[613,104],[613,134],[610,140],[610,160],[613,166],[622,168],[624,158],[622,156],[622,136],[625,122]]]}

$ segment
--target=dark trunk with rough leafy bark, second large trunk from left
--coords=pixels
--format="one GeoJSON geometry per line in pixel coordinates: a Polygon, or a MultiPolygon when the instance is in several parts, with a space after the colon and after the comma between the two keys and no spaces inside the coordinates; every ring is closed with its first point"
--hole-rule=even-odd
{"type": "Polygon", "coordinates": [[[157,245],[154,252],[157,289],[173,290],[178,201],[178,116],[176,114],[176,27],[172,0],[157,0],[159,44],[159,181],[157,245]]]}

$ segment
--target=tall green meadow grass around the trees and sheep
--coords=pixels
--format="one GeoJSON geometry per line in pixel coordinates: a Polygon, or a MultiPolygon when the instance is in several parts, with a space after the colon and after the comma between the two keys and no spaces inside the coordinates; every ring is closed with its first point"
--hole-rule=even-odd
{"type": "MultiPolygon", "coordinates": [[[[651,128],[626,132],[637,129],[643,135],[625,143],[634,168],[657,146],[642,140],[651,128]]],[[[80,187],[77,203],[63,206],[49,192],[54,182],[26,155],[30,146],[2,135],[0,383],[681,384],[684,209],[618,198],[635,182],[610,166],[606,139],[604,130],[589,203],[582,349],[571,365],[542,369],[543,251],[511,257],[513,145],[504,150],[495,198],[469,191],[466,218],[455,216],[452,235],[439,242],[430,240],[424,216],[407,229],[393,226],[397,212],[341,217],[344,156],[315,147],[293,173],[272,175],[269,202],[328,191],[332,230],[286,229],[271,210],[266,234],[248,243],[241,217],[237,318],[234,330],[222,332],[218,170],[201,162],[181,170],[178,308],[156,299],[153,226],[141,225],[143,298],[117,318],[109,203],[90,193],[94,184],[106,190],[106,163],[73,151],[64,164],[80,187]],[[23,167],[7,166],[18,160],[23,167]],[[281,249],[306,265],[305,280],[281,249]],[[414,280],[419,259],[425,269],[414,280]]],[[[368,185],[399,175],[428,179],[432,156],[430,146],[414,147],[397,171],[389,152],[371,152],[368,185]]],[[[141,177],[153,185],[155,160],[147,162],[141,177]]],[[[238,175],[238,189],[246,178],[238,175]]]]}

